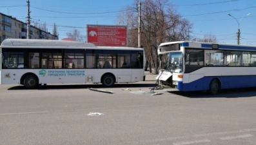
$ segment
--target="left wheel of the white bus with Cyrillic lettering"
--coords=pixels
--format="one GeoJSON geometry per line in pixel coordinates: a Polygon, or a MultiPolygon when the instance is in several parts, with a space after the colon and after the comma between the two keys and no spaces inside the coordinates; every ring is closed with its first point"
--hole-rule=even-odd
{"type": "Polygon", "coordinates": [[[28,89],[37,88],[39,86],[39,78],[35,73],[25,73],[21,77],[20,83],[28,89]]]}

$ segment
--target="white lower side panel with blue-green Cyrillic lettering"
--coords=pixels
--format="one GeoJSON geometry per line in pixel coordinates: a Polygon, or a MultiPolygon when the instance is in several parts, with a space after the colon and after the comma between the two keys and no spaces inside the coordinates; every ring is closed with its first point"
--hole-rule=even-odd
{"type": "Polygon", "coordinates": [[[140,69],[3,69],[2,73],[2,84],[21,84],[25,73],[37,75],[39,84],[100,83],[104,73],[113,73],[116,82],[138,82],[143,81],[144,75],[140,69]]]}

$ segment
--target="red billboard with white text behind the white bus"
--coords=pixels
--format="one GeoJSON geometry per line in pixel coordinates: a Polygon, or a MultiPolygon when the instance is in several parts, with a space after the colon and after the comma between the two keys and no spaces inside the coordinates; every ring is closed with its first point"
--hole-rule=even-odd
{"type": "Polygon", "coordinates": [[[127,27],[87,24],[87,42],[96,46],[127,46],[127,27]]]}

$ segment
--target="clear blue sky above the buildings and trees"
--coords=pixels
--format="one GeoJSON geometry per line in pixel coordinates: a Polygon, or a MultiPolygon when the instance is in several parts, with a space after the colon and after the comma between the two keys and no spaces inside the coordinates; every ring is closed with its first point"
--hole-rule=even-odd
{"type": "MultiPolygon", "coordinates": [[[[27,0],[1,0],[0,12],[26,23],[27,0]]],[[[141,0],[143,1],[143,0],[141,0]]],[[[241,30],[240,44],[256,45],[256,0],[168,0],[182,19],[193,24],[192,37],[215,35],[219,43],[237,44],[237,30],[241,30]],[[231,14],[233,17],[231,17],[231,14]],[[250,14],[250,15],[248,15],[250,14]]],[[[30,0],[31,24],[46,23],[52,34],[54,23],[59,39],[77,29],[86,35],[87,24],[118,24],[117,15],[134,0],[30,0]]]]}

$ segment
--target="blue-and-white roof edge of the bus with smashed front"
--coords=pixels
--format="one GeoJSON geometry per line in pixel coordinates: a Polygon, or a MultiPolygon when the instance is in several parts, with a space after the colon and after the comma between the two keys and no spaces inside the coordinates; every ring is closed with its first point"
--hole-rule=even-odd
{"type": "Polygon", "coordinates": [[[196,41],[175,41],[170,43],[161,43],[159,46],[170,45],[170,44],[181,44],[181,46],[185,46],[186,48],[256,51],[256,46],[239,45],[239,44],[222,44],[222,43],[204,43],[204,42],[196,42],[196,41]],[[213,48],[214,46],[215,48],[213,48]]]}

